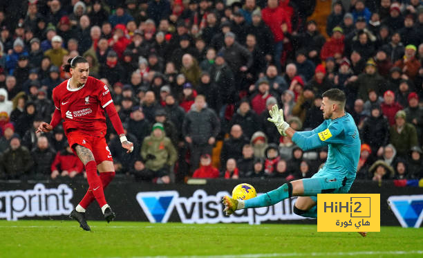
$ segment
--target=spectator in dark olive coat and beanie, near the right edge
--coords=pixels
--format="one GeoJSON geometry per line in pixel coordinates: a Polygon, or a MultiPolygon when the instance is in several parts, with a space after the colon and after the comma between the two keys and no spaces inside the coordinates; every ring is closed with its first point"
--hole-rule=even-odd
{"type": "Polygon", "coordinates": [[[406,113],[402,110],[395,114],[395,125],[389,129],[390,142],[397,149],[398,156],[406,157],[411,147],[417,146],[415,127],[406,122],[406,113]]]}

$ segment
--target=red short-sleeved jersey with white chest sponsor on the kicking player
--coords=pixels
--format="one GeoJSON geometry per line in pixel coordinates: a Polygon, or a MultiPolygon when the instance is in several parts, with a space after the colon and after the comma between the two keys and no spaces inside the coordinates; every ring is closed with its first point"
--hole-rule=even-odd
{"type": "Polygon", "coordinates": [[[107,131],[104,108],[113,103],[109,88],[102,81],[88,76],[86,83],[71,89],[66,80],[53,89],[53,102],[62,113],[65,133],[69,129],[104,136],[107,131]]]}

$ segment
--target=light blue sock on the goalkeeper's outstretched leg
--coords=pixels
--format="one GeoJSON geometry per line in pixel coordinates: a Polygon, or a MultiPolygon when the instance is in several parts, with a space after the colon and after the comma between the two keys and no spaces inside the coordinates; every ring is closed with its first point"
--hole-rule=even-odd
{"type": "Polygon", "coordinates": [[[240,206],[242,205],[244,205],[243,208],[245,209],[271,206],[291,196],[292,196],[292,184],[285,183],[278,189],[272,190],[265,194],[261,194],[261,196],[257,196],[253,199],[245,200],[243,204],[238,203],[237,210],[238,208],[241,208],[240,206]]]}

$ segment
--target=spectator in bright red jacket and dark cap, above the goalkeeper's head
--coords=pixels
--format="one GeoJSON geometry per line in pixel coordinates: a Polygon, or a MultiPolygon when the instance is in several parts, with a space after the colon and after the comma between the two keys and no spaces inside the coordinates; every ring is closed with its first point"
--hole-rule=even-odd
{"type": "Polygon", "coordinates": [[[333,28],[332,37],[321,48],[320,58],[322,60],[326,60],[328,57],[341,58],[345,49],[344,39],[344,30],[341,27],[333,28]]]}

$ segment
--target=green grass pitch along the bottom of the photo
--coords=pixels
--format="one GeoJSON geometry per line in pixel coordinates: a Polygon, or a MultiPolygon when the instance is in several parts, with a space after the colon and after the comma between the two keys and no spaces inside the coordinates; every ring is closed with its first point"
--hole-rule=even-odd
{"type": "Polygon", "coordinates": [[[0,221],[0,257],[423,257],[423,229],[317,232],[317,225],[0,221]]]}

